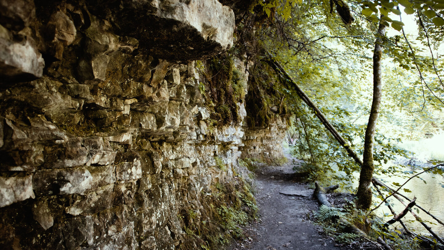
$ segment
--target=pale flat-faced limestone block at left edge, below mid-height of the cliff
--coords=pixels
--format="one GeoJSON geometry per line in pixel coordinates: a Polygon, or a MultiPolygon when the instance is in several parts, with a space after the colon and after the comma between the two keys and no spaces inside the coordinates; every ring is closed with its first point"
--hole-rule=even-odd
{"type": "Polygon", "coordinates": [[[26,177],[0,177],[0,207],[35,198],[32,192],[32,175],[26,177]]]}

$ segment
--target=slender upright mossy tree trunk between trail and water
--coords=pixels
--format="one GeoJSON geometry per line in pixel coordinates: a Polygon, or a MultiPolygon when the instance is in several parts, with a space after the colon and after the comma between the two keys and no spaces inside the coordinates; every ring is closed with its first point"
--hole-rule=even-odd
{"type": "MultiPolygon", "coordinates": [[[[382,17],[382,16],[381,16],[382,17]]],[[[356,193],[358,198],[358,208],[367,210],[372,205],[372,183],[373,171],[375,165],[373,163],[373,142],[375,138],[376,124],[378,121],[379,107],[382,97],[381,83],[381,56],[382,56],[382,37],[385,34],[385,26],[381,23],[378,27],[377,38],[375,42],[375,50],[373,51],[373,102],[370,110],[369,123],[365,130],[364,155],[362,159],[361,173],[359,175],[359,186],[356,193]]]]}

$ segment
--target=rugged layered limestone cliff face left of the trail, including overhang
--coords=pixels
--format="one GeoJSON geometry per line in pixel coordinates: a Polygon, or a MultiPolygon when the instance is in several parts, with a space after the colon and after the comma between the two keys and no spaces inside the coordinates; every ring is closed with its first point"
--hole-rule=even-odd
{"type": "Polygon", "coordinates": [[[0,7],[0,248],[180,248],[181,208],[198,220],[202,195],[246,171],[241,125],[207,126],[190,61],[231,46],[232,10],[215,0],[0,7]]]}

